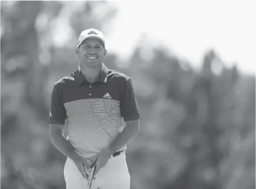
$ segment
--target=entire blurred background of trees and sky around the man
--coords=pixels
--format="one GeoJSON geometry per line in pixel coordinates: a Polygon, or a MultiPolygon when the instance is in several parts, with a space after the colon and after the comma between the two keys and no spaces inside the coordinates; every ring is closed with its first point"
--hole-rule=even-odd
{"type": "Polygon", "coordinates": [[[65,188],[50,94],[87,28],[133,81],[131,189],[255,188],[255,23],[254,1],[1,1],[1,188],[65,188]]]}

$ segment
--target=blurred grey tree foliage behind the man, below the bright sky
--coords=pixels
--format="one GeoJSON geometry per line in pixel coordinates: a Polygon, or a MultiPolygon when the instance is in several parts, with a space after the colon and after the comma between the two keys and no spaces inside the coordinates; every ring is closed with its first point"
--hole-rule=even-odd
{"type": "MultiPolygon", "coordinates": [[[[103,1],[1,2],[1,188],[65,187],[65,157],[48,134],[52,86],[76,70],[74,39],[85,28],[106,33],[116,11],[103,1]],[[55,46],[63,16],[71,45],[55,46]]],[[[126,67],[113,53],[104,62],[132,78],[141,113],[127,150],[131,189],[255,188],[255,77],[213,50],[200,71],[167,49],[150,60],[142,50],[126,67]]]]}

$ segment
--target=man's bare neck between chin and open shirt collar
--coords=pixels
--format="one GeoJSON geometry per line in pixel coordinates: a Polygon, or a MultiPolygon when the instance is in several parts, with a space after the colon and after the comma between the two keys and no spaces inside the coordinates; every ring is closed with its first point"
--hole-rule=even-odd
{"type": "Polygon", "coordinates": [[[79,64],[81,74],[86,78],[87,81],[89,82],[94,82],[98,79],[101,68],[102,68],[102,63],[100,63],[100,66],[96,68],[90,68],[90,67],[84,67],[79,64]]]}

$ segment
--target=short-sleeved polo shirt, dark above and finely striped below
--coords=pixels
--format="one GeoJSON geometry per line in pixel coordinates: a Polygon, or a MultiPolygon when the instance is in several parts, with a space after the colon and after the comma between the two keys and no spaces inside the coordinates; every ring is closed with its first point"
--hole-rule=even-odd
{"type": "MultiPolygon", "coordinates": [[[[50,124],[68,124],[75,151],[92,158],[122,131],[123,120],[140,118],[131,79],[102,63],[100,76],[90,83],[77,70],[53,85],[50,124]]],[[[126,147],[124,147],[126,149],[126,147]]]]}

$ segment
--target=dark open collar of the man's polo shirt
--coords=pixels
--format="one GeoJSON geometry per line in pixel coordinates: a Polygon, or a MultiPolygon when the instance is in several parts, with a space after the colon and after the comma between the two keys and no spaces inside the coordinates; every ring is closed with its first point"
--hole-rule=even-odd
{"type": "MultiPolygon", "coordinates": [[[[107,78],[107,67],[105,66],[105,64],[102,63],[100,76],[98,80],[95,82],[106,83],[106,78],[107,78]]],[[[80,65],[78,65],[77,70],[75,71],[75,80],[79,85],[81,85],[84,82],[87,82],[86,78],[82,75],[80,71],[80,65]]]]}

